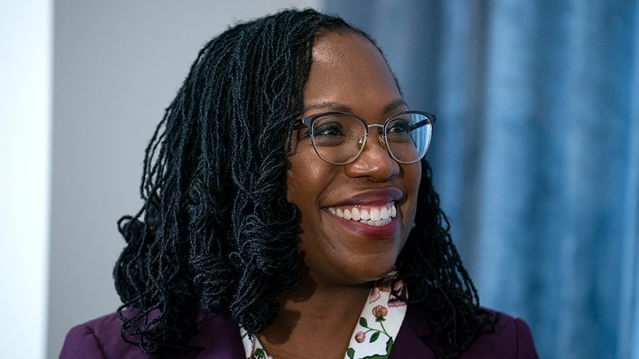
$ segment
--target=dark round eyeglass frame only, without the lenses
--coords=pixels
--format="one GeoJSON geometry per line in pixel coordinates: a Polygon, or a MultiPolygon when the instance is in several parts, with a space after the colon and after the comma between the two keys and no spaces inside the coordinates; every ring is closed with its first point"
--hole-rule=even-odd
{"type": "Polygon", "coordinates": [[[434,114],[430,114],[428,112],[425,111],[402,111],[402,112],[398,112],[397,114],[394,114],[393,116],[389,117],[386,119],[386,121],[384,121],[383,125],[380,123],[371,123],[368,124],[368,122],[364,119],[361,118],[360,116],[357,116],[356,114],[351,114],[349,112],[341,112],[341,111],[328,111],[328,112],[321,112],[320,114],[312,114],[309,116],[305,116],[303,118],[298,118],[295,122],[297,122],[297,126],[306,126],[308,128],[308,131],[310,133],[310,138],[312,140],[313,143],[313,150],[315,150],[315,153],[317,153],[317,156],[319,158],[321,158],[324,162],[330,163],[332,165],[348,165],[351,162],[354,162],[355,160],[357,160],[359,158],[359,156],[361,155],[362,152],[364,152],[364,148],[366,147],[366,140],[368,140],[368,128],[371,127],[378,127],[378,128],[382,128],[383,132],[379,135],[383,138],[383,147],[386,149],[386,151],[388,152],[389,155],[391,155],[391,158],[393,158],[393,160],[397,161],[398,163],[402,163],[404,165],[410,165],[412,163],[415,162],[419,162],[420,160],[422,160],[422,158],[424,158],[424,156],[426,155],[426,153],[428,152],[428,148],[430,148],[430,142],[432,139],[432,128],[435,126],[435,121],[437,121],[437,117],[434,114]],[[391,151],[391,148],[388,146],[388,140],[386,139],[386,130],[388,129],[388,123],[391,123],[391,121],[395,118],[397,118],[398,116],[402,116],[405,114],[419,114],[422,116],[425,116],[427,119],[430,120],[430,129],[428,133],[428,143],[426,144],[426,148],[424,150],[424,153],[422,153],[422,155],[420,155],[419,158],[417,158],[416,160],[413,161],[402,161],[402,160],[398,160],[398,158],[395,157],[395,155],[393,154],[393,151],[391,151]],[[351,116],[353,118],[358,119],[359,121],[361,121],[361,123],[364,124],[364,127],[366,128],[366,133],[364,133],[364,142],[361,144],[361,148],[359,149],[359,153],[357,153],[357,155],[355,155],[353,158],[351,158],[351,160],[348,160],[346,162],[331,162],[329,160],[326,160],[325,158],[322,157],[322,155],[320,155],[320,151],[317,150],[317,145],[315,145],[315,136],[313,136],[312,134],[312,125],[313,122],[315,122],[315,120],[317,118],[323,117],[323,116],[331,116],[331,115],[344,115],[344,116],[351,116]]]}

